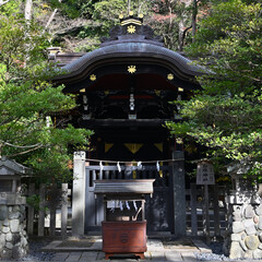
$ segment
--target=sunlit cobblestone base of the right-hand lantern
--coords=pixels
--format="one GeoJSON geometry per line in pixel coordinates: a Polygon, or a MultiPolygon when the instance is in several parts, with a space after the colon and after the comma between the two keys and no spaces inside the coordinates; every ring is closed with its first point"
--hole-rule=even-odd
{"type": "Polygon", "coordinates": [[[262,259],[262,204],[229,204],[224,252],[230,259],[262,259]]]}

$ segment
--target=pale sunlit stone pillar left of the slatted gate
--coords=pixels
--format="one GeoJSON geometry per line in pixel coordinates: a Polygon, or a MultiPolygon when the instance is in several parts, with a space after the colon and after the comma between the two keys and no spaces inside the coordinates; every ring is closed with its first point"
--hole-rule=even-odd
{"type": "Polygon", "coordinates": [[[73,171],[72,235],[80,237],[85,224],[85,152],[74,153],[73,171]]]}

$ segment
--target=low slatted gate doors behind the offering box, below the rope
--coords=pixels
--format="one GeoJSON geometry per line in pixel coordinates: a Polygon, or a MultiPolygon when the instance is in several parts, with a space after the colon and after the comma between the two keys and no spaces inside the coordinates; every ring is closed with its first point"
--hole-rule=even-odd
{"type": "Polygon", "coordinates": [[[171,166],[162,166],[160,175],[156,166],[86,166],[86,205],[85,205],[85,233],[99,231],[104,221],[103,198],[95,199],[94,181],[97,179],[155,179],[153,198],[146,196],[145,218],[147,231],[174,231],[172,228],[172,176],[171,166]]]}

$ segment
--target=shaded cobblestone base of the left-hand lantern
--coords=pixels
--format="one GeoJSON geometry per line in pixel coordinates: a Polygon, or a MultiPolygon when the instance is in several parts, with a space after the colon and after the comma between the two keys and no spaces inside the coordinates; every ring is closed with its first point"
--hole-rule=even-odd
{"type": "Polygon", "coordinates": [[[19,259],[27,251],[25,205],[0,204],[0,260],[19,259]]]}

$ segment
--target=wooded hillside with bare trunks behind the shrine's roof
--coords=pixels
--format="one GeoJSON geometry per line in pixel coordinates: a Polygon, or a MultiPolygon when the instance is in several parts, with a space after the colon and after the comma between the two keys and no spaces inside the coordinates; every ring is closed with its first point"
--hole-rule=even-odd
{"type": "Polygon", "coordinates": [[[1,13],[27,8],[27,14],[49,33],[49,43],[67,51],[90,51],[100,37],[130,11],[163,36],[167,48],[182,50],[191,43],[198,22],[212,5],[209,0],[50,0],[2,1],[1,13]]]}

